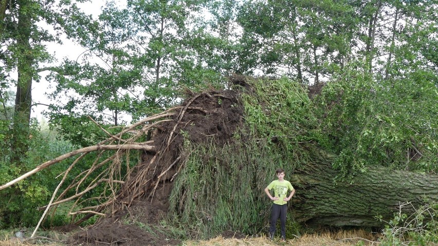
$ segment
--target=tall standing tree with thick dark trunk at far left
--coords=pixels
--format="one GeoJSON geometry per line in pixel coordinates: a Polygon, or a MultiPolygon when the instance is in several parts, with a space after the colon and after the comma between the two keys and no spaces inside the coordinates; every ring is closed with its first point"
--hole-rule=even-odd
{"type": "Polygon", "coordinates": [[[28,149],[32,84],[39,82],[39,72],[57,70],[42,67],[43,63],[50,64],[53,61],[46,51],[46,45],[50,42],[60,42],[62,30],[71,28],[64,20],[81,14],[71,2],[7,1],[7,11],[4,11],[4,2],[1,6],[0,39],[5,47],[0,55],[3,63],[2,76],[8,81],[6,83],[16,86],[14,117],[10,131],[11,161],[21,165],[28,149]],[[16,79],[13,78],[14,71],[17,73],[16,79]]]}

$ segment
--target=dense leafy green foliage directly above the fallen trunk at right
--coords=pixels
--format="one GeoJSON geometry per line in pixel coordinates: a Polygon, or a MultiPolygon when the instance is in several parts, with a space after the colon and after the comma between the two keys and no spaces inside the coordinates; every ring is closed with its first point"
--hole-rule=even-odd
{"type": "Polygon", "coordinates": [[[320,144],[338,154],[339,177],[367,165],[431,172],[438,163],[436,74],[416,70],[375,80],[354,68],[327,83],[320,106],[320,144]]]}

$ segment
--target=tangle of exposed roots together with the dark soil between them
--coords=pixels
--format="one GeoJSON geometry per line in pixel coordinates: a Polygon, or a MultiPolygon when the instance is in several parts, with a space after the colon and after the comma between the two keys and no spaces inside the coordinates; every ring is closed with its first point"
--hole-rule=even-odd
{"type": "MultiPolygon", "coordinates": [[[[240,118],[236,120],[238,117],[234,117],[236,119],[229,119],[230,116],[227,116],[224,110],[221,111],[223,107],[221,105],[222,101],[226,100],[228,100],[228,106],[236,104],[235,93],[231,93],[231,96],[224,96],[216,91],[199,93],[186,104],[172,107],[156,115],[144,118],[135,124],[124,127],[116,135],[109,133],[104,127],[90,118],[108,136],[107,139],[97,145],[77,149],[47,161],[21,177],[0,186],[0,190],[53,164],[80,154],[65,171],[57,190],[53,193],[50,203],[40,207],[40,210],[46,210],[43,217],[49,209],[55,211],[59,204],[68,201],[74,201],[69,215],[74,220],[79,216],[77,223],[94,215],[114,215],[123,210],[124,207],[130,206],[136,199],[142,196],[150,198],[152,201],[159,184],[173,181],[182,168],[181,163],[183,163],[182,160],[185,158],[180,151],[185,138],[180,134],[182,131],[186,131],[190,127],[195,129],[193,126],[196,124],[204,126],[196,121],[211,115],[220,117],[216,120],[218,124],[225,124],[225,122],[230,122],[231,120],[240,121],[240,118]],[[196,101],[199,102],[194,103],[196,101]],[[192,106],[192,104],[195,105],[192,106]],[[190,117],[186,117],[187,115],[190,117]],[[151,139],[148,139],[151,135],[151,139]],[[137,159],[139,159],[135,167],[130,165],[130,161],[132,161],[131,152],[133,150],[141,150],[140,152],[135,152],[137,159]],[[73,178],[64,190],[61,189],[61,194],[57,195],[59,188],[67,179],[71,169],[90,153],[97,153],[92,165],[73,178]],[[94,191],[97,187],[103,191],[97,197],[90,197],[90,192],[94,191]],[[98,205],[83,205],[85,201],[90,200],[97,201],[98,205]]],[[[236,107],[234,112],[239,117],[241,117],[243,111],[242,109],[240,110],[236,107]]],[[[214,138],[219,135],[214,131],[217,132],[223,129],[225,129],[227,136],[232,134],[229,132],[230,127],[227,126],[214,125],[209,127],[206,127],[204,131],[195,129],[196,133],[193,136],[197,135],[197,138],[202,140],[208,137],[214,138]]],[[[194,138],[193,136],[190,138],[194,138]]],[[[219,137],[221,136],[216,138],[219,137]]],[[[191,140],[199,141],[198,139],[191,140]]]]}

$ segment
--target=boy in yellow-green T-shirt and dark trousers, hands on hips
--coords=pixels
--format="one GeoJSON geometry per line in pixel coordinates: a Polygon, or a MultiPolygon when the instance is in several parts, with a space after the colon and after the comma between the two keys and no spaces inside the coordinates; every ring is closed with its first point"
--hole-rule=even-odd
{"type": "Polygon", "coordinates": [[[277,220],[280,217],[280,229],[281,240],[286,239],[286,214],[287,214],[287,201],[289,201],[295,194],[294,187],[289,181],[284,180],[284,170],[279,168],[275,171],[278,180],[272,181],[266,188],[265,193],[269,199],[273,201],[271,212],[271,226],[269,228],[269,238],[273,239],[275,234],[277,220]],[[271,196],[270,190],[274,190],[274,196],[271,196]],[[287,191],[290,190],[290,194],[286,197],[287,191]]]}

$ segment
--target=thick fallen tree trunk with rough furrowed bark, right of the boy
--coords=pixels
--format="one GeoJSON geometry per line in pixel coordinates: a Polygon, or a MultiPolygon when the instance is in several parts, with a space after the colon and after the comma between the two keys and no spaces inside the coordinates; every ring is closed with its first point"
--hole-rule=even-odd
{"type": "Polygon", "coordinates": [[[297,191],[292,203],[295,218],[308,225],[382,226],[376,216],[389,221],[400,204],[411,202],[401,209],[411,215],[414,207],[438,201],[438,175],[371,166],[353,183],[335,184],[338,173],[331,166],[332,159],[318,158],[290,179],[297,191]]]}

